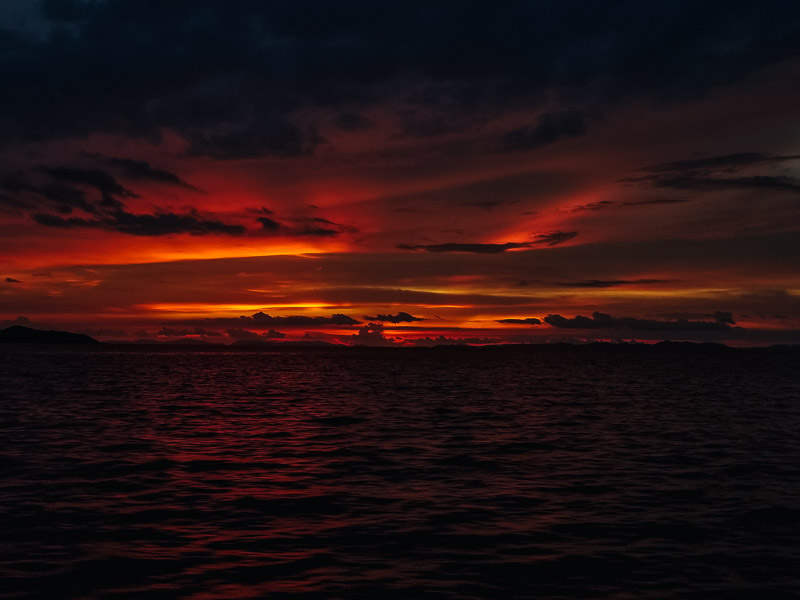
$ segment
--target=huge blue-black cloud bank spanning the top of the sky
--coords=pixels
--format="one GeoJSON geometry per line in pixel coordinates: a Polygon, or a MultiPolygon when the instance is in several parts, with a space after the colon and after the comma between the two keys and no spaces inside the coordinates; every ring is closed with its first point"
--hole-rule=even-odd
{"type": "Polygon", "coordinates": [[[586,107],[697,96],[800,55],[800,5],[780,0],[46,0],[24,19],[3,11],[3,140],[169,129],[217,158],[314,152],[316,107],[385,104],[436,135],[544,106],[551,91],[586,105],[552,107],[503,138],[524,151],[582,133],[586,107]]]}

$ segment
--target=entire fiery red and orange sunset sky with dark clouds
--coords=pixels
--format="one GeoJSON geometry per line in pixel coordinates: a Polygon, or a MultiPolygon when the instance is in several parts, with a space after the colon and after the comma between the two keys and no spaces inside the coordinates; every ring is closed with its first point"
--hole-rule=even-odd
{"type": "Polygon", "coordinates": [[[0,81],[0,326],[800,343],[794,1],[4,0],[0,81]]]}

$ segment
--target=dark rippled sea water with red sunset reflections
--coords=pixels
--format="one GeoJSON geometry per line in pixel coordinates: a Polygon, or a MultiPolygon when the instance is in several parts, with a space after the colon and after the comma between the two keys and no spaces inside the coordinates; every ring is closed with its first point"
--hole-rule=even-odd
{"type": "Polygon", "coordinates": [[[0,349],[2,598],[798,598],[798,354],[0,349]]]}

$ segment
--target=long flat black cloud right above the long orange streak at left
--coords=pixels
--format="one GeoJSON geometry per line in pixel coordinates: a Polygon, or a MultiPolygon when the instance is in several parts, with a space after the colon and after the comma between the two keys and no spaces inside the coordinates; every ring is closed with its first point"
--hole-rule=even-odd
{"type": "Polygon", "coordinates": [[[246,229],[241,225],[230,225],[221,221],[203,219],[195,214],[176,214],[173,212],[133,214],[121,209],[105,213],[97,218],[88,219],[80,217],[64,218],[48,213],[36,213],[33,215],[33,220],[47,227],[106,229],[140,236],[159,236],[176,233],[243,235],[246,232],[246,229]]]}

